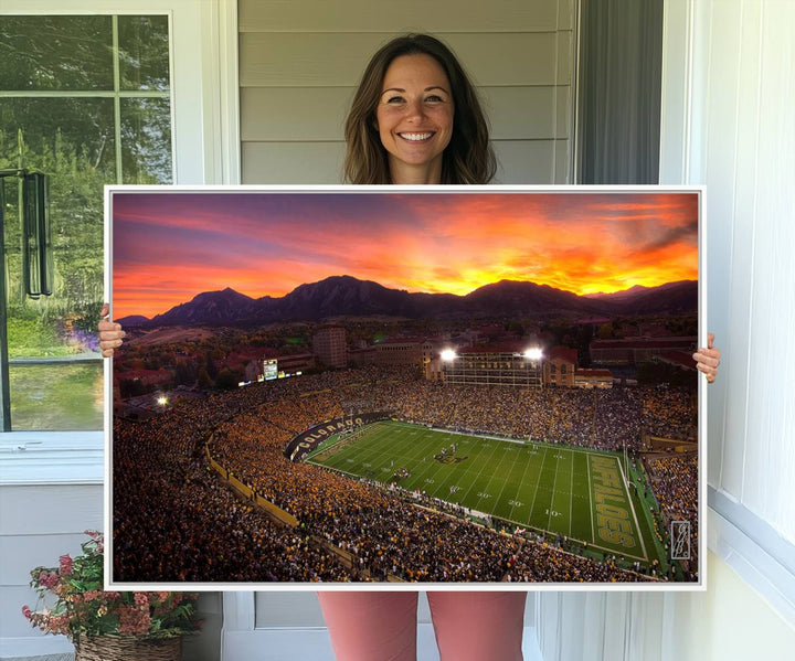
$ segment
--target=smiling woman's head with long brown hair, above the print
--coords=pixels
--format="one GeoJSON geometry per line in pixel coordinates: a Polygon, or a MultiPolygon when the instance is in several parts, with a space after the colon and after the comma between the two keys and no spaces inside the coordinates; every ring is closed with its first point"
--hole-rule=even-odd
{"type": "Polygon", "coordinates": [[[488,124],[453,52],[427,34],[390,41],[364,70],[346,121],[350,183],[488,183],[488,124]]]}

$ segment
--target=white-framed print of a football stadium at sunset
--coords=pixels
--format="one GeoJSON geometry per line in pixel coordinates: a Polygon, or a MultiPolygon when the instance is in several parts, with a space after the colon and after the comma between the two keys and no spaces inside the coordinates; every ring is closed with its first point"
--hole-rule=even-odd
{"type": "Polygon", "coordinates": [[[108,188],[110,585],[702,587],[703,209],[108,188]]]}

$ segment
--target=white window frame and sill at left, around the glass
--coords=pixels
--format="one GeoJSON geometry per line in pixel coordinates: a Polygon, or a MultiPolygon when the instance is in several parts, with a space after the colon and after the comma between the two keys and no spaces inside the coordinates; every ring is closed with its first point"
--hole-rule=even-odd
{"type": "MultiPolygon", "coordinates": [[[[168,15],[173,182],[240,183],[236,2],[105,0],[91,9],[87,4],[85,0],[3,2],[0,14],[168,15]]],[[[107,241],[106,224],[106,246],[107,241]]],[[[109,284],[106,268],[106,296],[109,284]]],[[[106,383],[112,379],[110,361],[105,361],[104,376],[106,383]]],[[[112,408],[106,396],[105,431],[0,433],[0,484],[103,483],[112,408]]]]}

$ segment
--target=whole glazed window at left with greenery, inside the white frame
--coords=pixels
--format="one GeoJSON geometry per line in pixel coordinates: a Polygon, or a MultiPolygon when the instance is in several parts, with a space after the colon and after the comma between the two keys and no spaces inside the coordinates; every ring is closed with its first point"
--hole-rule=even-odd
{"type": "Polygon", "coordinates": [[[172,181],[169,17],[3,17],[0,53],[4,430],[100,429],[103,185],[172,181]],[[19,170],[49,175],[51,296],[25,292],[19,170]]]}

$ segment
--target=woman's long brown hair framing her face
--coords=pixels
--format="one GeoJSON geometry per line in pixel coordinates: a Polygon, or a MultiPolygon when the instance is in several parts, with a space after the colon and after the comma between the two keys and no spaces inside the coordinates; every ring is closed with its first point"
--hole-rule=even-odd
{"type": "Polygon", "coordinates": [[[370,60],[346,120],[346,181],[392,183],[386,150],[375,128],[375,108],[392,61],[401,55],[416,54],[430,55],[439,63],[447,74],[455,104],[453,136],[442,161],[442,183],[488,183],[495,175],[497,161],[475,87],[453,52],[428,34],[393,39],[370,60]]]}

